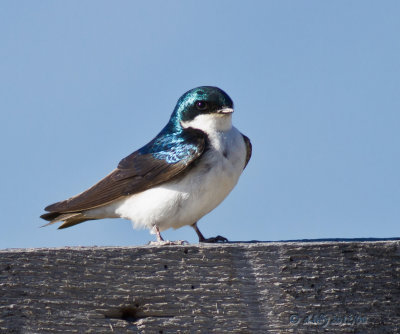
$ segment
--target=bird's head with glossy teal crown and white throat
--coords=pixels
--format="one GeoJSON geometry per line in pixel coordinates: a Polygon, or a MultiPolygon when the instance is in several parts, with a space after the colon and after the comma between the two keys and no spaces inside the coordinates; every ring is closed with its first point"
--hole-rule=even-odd
{"type": "Polygon", "coordinates": [[[206,133],[232,127],[233,102],[222,89],[202,86],[183,94],[172,113],[175,126],[195,128],[206,133]]]}

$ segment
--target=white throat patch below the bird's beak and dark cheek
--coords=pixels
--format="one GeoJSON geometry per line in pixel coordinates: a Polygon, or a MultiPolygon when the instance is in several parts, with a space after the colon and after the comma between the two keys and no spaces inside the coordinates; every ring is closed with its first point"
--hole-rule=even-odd
{"type": "Polygon", "coordinates": [[[201,114],[191,121],[181,122],[184,128],[194,128],[205,133],[228,131],[232,128],[232,114],[201,114]]]}

